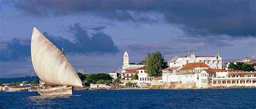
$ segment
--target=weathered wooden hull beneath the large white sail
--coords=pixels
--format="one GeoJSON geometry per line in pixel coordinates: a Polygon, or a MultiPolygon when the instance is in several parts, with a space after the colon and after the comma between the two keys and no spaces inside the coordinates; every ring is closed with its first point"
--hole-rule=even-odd
{"type": "Polygon", "coordinates": [[[60,86],[60,87],[39,89],[38,93],[41,96],[71,95],[72,94],[72,86],[60,86]]]}

